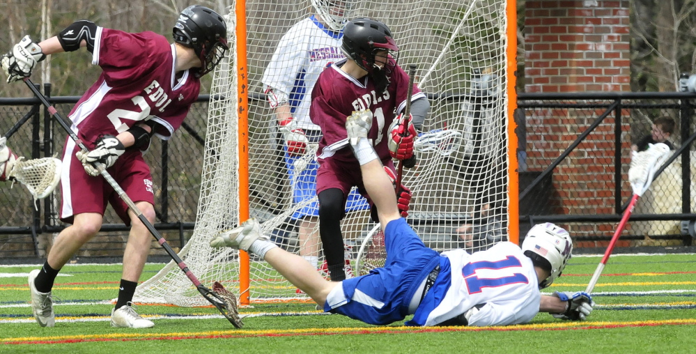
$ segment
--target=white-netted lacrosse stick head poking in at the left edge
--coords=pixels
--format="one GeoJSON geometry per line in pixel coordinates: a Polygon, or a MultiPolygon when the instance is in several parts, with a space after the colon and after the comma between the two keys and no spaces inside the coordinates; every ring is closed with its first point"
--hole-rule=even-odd
{"type": "Polygon", "coordinates": [[[15,178],[26,187],[34,199],[48,197],[61,180],[61,160],[55,157],[24,160],[20,157],[10,170],[9,178],[15,178]]]}

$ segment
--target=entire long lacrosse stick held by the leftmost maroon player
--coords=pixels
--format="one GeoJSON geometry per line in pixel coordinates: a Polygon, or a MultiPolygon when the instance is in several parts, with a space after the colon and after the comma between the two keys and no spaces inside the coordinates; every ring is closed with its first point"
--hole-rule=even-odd
{"type": "MultiPolygon", "coordinates": [[[[33,83],[31,82],[31,80],[29,80],[28,77],[25,77],[23,80],[26,86],[29,86],[31,92],[33,92],[34,95],[36,95],[36,97],[41,101],[41,103],[47,107],[51,116],[53,118],[56,118],[56,121],[61,125],[61,127],[63,127],[63,130],[65,130],[65,132],[68,133],[70,139],[74,140],[75,144],[77,144],[77,146],[79,146],[79,148],[81,148],[84,153],[88,153],[88,148],[84,145],[82,140],[80,140],[79,137],[77,137],[77,134],[75,134],[75,132],[73,132],[72,129],[70,129],[68,123],[65,123],[65,121],[63,121],[63,117],[48,102],[46,96],[38,91],[38,88],[36,88],[33,85],[33,83]]],[[[225,318],[227,318],[227,320],[230,321],[230,323],[232,323],[232,325],[234,325],[235,328],[242,328],[242,321],[240,321],[239,315],[237,314],[237,302],[235,296],[231,292],[227,291],[224,288],[224,286],[222,286],[222,284],[219,283],[213,286],[213,289],[215,290],[210,290],[209,288],[206,288],[206,286],[203,286],[203,284],[201,284],[201,281],[199,281],[199,279],[196,278],[193,272],[189,270],[184,261],[182,261],[179,258],[179,256],[176,254],[176,252],[174,252],[173,249],[171,249],[171,247],[169,247],[167,240],[164,240],[164,238],[162,238],[160,233],[157,232],[157,230],[155,230],[155,226],[153,226],[153,224],[151,224],[147,220],[145,215],[141,213],[141,211],[138,209],[135,203],[133,203],[130,197],[128,197],[128,195],[125,194],[123,188],[121,188],[121,186],[118,185],[116,180],[114,180],[114,178],[111,177],[111,174],[107,172],[104,164],[100,164],[97,162],[94,164],[94,167],[96,167],[99,170],[102,177],[104,177],[105,180],[107,180],[107,182],[109,183],[109,185],[111,185],[111,187],[114,188],[114,191],[118,194],[118,197],[120,197],[121,200],[123,200],[123,202],[127,204],[128,208],[135,215],[137,215],[138,219],[147,227],[148,231],[150,231],[152,236],[154,236],[157,240],[157,243],[160,243],[162,248],[164,248],[167,251],[167,254],[171,256],[171,259],[173,259],[174,262],[176,262],[179,268],[181,268],[181,271],[184,272],[186,276],[191,280],[191,282],[196,286],[196,289],[199,291],[199,293],[201,293],[201,295],[203,295],[203,298],[206,298],[208,302],[215,306],[215,308],[217,308],[217,310],[220,311],[222,316],[225,316],[225,318]]]]}

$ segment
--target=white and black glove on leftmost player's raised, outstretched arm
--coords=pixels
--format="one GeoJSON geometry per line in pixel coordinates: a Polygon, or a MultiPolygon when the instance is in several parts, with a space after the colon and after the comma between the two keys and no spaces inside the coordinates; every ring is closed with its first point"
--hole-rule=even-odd
{"type": "Polygon", "coordinates": [[[7,75],[7,82],[10,83],[31,76],[31,70],[43,59],[46,59],[46,55],[41,51],[41,47],[33,43],[29,36],[24,36],[20,43],[1,57],[0,66],[7,75]]]}

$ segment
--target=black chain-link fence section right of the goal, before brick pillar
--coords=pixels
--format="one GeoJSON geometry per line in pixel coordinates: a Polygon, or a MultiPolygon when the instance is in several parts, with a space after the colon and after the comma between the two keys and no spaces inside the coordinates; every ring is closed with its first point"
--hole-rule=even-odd
{"type": "Polygon", "coordinates": [[[603,252],[633,194],[631,147],[651,134],[656,118],[671,117],[675,149],[638,200],[617,247],[690,246],[694,104],[690,93],[520,95],[520,229],[555,222],[569,230],[575,247],[603,252]]]}

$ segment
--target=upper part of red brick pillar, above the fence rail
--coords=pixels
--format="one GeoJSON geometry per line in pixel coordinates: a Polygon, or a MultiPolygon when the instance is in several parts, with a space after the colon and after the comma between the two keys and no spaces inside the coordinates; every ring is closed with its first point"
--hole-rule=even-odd
{"type": "Polygon", "coordinates": [[[525,1],[525,91],[631,91],[628,0],[525,1]]]}

